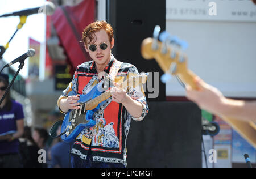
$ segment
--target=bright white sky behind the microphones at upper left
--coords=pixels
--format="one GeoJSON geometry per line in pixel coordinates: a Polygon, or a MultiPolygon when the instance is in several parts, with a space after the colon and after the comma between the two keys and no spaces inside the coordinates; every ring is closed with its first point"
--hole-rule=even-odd
{"type": "MultiPolygon", "coordinates": [[[[40,7],[46,0],[1,0],[0,1],[0,15],[10,14],[12,12],[25,10],[28,8],[40,7]]],[[[16,31],[19,24],[19,16],[9,16],[0,18],[0,45],[6,45],[16,31]]],[[[7,63],[18,58],[26,53],[29,49],[28,39],[39,41],[45,44],[46,34],[46,15],[32,14],[27,17],[26,23],[16,33],[13,40],[9,44],[9,48],[3,54],[3,60],[7,63]]],[[[16,71],[18,70],[19,63],[15,63],[11,67],[16,71]]],[[[20,70],[19,75],[27,78],[28,76],[28,58],[25,61],[25,66],[20,70]]]]}

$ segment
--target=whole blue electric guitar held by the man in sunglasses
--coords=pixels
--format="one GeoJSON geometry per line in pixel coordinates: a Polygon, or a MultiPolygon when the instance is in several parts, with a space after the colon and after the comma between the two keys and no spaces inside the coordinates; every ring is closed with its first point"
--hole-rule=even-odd
{"type": "MultiPolygon", "coordinates": [[[[130,88],[135,88],[142,83],[146,83],[147,76],[148,73],[133,76],[121,83],[120,87],[128,91],[130,88]]],[[[57,137],[61,136],[64,142],[71,142],[81,133],[82,129],[96,125],[96,121],[93,120],[94,112],[100,109],[100,106],[105,103],[105,100],[111,96],[110,90],[104,92],[102,83],[98,83],[86,95],[80,95],[80,99],[78,100],[80,109],[69,110],[67,112],[61,125],[61,134],[57,137]]]]}

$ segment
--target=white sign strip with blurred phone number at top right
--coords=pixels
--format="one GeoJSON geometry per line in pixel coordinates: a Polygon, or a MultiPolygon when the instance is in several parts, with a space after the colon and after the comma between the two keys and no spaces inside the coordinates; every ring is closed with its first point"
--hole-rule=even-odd
{"type": "Polygon", "coordinates": [[[256,22],[251,0],[167,0],[166,20],[256,22]]]}

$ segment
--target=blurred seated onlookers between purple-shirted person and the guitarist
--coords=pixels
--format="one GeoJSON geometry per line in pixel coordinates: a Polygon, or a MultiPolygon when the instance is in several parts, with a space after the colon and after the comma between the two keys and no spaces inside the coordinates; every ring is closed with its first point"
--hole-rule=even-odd
{"type": "MultiPolygon", "coordinates": [[[[60,127],[59,127],[60,129],[60,127]]],[[[60,133],[60,131],[57,131],[60,133]]],[[[60,138],[52,140],[48,131],[43,127],[24,127],[24,134],[20,140],[19,156],[24,168],[68,168],[69,167],[69,143],[60,138]],[[46,151],[46,162],[40,160],[39,150],[46,151]]]]}

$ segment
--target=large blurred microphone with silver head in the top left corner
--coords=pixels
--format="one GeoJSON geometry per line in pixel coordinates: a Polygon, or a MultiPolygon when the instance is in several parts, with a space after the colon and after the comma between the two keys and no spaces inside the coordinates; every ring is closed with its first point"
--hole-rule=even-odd
{"type": "Polygon", "coordinates": [[[26,10],[13,12],[11,14],[3,14],[3,15],[0,15],[0,18],[1,17],[8,17],[8,16],[16,16],[16,15],[28,16],[28,15],[31,15],[31,14],[37,14],[37,13],[42,13],[42,12],[46,15],[52,15],[54,11],[55,11],[55,5],[52,2],[46,1],[44,3],[44,5],[41,6],[41,7],[28,8],[26,10]]]}

